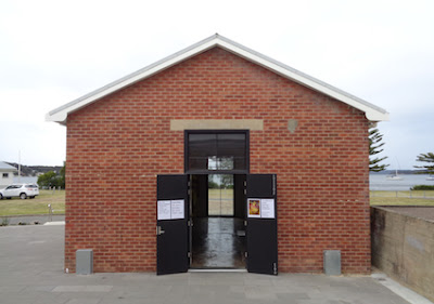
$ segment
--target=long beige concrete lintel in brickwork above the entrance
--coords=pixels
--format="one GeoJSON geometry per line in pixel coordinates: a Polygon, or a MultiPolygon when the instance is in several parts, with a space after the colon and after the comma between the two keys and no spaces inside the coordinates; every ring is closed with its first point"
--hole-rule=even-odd
{"type": "Polygon", "coordinates": [[[263,119],[173,119],[171,131],[183,130],[264,130],[263,119]]]}

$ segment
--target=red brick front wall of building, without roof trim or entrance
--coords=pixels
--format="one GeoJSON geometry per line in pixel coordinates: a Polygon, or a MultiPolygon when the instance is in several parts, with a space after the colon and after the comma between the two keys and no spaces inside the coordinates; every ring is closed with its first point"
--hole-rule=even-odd
{"type": "Polygon", "coordinates": [[[217,48],[68,117],[66,268],[91,248],[94,272],[155,272],[156,175],[183,173],[170,119],[207,118],[264,120],[251,173],[278,174],[280,272],[322,272],[326,249],[370,272],[363,113],[217,48]]]}

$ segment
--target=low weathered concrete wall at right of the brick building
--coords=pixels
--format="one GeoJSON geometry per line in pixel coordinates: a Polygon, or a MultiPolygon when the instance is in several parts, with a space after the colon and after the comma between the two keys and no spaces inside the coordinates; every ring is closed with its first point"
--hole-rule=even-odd
{"type": "Polygon", "coordinates": [[[371,242],[373,266],[434,301],[434,221],[371,207],[371,242]]]}

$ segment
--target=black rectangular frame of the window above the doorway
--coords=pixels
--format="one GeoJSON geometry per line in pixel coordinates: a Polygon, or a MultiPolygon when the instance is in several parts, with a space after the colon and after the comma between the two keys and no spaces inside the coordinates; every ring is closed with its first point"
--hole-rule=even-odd
{"type": "Polygon", "coordinates": [[[250,130],[184,130],[184,173],[186,174],[248,174],[250,173],[250,130]],[[190,170],[189,135],[190,134],[244,134],[245,169],[243,170],[190,170]]]}

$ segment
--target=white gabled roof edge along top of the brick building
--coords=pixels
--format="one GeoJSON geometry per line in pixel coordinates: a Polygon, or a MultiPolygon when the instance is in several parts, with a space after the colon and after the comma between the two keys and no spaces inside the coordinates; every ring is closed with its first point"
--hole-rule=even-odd
{"type": "Polygon", "coordinates": [[[200,53],[203,53],[209,49],[215,47],[222,48],[238,56],[241,56],[247,61],[251,61],[264,68],[267,68],[282,77],[291,79],[304,87],[310,88],[315,91],[321,92],[326,95],[329,95],[337,101],[341,101],[345,104],[348,104],[361,111],[365,113],[366,117],[371,121],[382,121],[388,120],[388,113],[373,104],[370,104],[363,100],[360,100],[349,93],[346,93],[337,88],[334,88],[321,80],[318,80],[314,77],[310,77],[299,70],[296,70],[290,66],[286,66],[278,61],[275,61],[270,57],[267,57],[258,52],[255,52],[248,48],[245,48],[232,40],[229,40],[218,34],[202,40],[182,51],[179,51],[166,58],[163,58],[150,66],[146,66],[142,69],[139,69],[136,72],[132,72],[124,78],[120,78],[117,81],[108,83],[107,85],[90,92],[89,94],[79,97],[68,104],[65,104],[59,108],[55,108],[46,115],[47,121],[55,121],[62,124],[66,124],[66,118],[71,113],[74,113],[87,105],[113,93],[118,90],[122,90],[128,85],[131,85],[138,81],[146,79],[166,68],[169,68],[174,65],[179,64],[182,61],[191,58],[200,53]]]}

